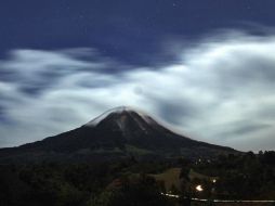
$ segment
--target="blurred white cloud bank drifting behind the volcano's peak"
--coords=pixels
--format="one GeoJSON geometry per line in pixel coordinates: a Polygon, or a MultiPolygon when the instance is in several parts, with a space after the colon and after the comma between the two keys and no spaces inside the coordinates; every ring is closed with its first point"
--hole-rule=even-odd
{"type": "Polygon", "coordinates": [[[0,147],[41,140],[128,105],[191,138],[275,150],[275,35],[218,34],[178,61],[133,67],[89,48],[17,49],[0,61],[0,147]]]}

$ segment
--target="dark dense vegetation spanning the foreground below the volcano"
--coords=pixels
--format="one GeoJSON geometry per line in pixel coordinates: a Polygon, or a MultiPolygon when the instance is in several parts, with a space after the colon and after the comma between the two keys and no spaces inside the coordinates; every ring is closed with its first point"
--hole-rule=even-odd
{"type": "Polygon", "coordinates": [[[184,204],[184,196],[272,199],[275,197],[275,152],[196,160],[129,158],[112,163],[0,166],[1,206],[161,206],[175,205],[175,201],[184,204]],[[182,168],[180,186],[166,188],[166,182],[154,178],[176,175],[171,168],[182,168]],[[169,173],[154,176],[165,171],[169,173]],[[213,178],[217,182],[212,182],[213,178]],[[195,190],[198,184],[204,191],[195,190]],[[182,197],[172,199],[160,192],[182,197]]]}

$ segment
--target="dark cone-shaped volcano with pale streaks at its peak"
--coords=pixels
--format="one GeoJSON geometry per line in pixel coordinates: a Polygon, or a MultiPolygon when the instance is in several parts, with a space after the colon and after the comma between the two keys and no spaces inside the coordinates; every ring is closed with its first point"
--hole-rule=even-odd
{"type": "Polygon", "coordinates": [[[88,124],[42,141],[0,150],[0,162],[113,158],[209,158],[235,150],[180,136],[146,114],[117,107],[88,124]]]}

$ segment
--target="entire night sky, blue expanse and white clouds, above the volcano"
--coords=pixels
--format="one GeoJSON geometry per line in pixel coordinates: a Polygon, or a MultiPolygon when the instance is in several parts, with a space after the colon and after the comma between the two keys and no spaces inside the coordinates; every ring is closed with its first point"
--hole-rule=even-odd
{"type": "Polygon", "coordinates": [[[0,2],[0,147],[127,105],[193,139],[275,150],[274,0],[0,2]]]}

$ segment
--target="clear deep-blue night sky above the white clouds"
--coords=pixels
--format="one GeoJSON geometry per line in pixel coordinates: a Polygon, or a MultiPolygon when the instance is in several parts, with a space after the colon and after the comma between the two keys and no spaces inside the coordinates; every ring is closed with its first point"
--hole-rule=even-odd
{"type": "Polygon", "coordinates": [[[274,26],[273,0],[26,0],[0,2],[0,52],[92,47],[131,64],[171,61],[173,38],[274,26]],[[154,55],[152,56],[152,53],[154,55]]]}

